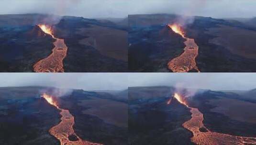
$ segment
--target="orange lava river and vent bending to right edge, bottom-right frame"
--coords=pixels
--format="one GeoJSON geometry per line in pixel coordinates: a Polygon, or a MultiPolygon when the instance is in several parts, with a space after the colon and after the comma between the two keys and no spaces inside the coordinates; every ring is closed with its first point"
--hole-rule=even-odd
{"type": "MultiPolygon", "coordinates": [[[[193,137],[191,138],[193,143],[197,145],[256,145],[255,137],[234,136],[211,132],[204,126],[203,114],[197,108],[189,107],[185,99],[178,95],[178,93],[175,93],[173,98],[176,98],[179,103],[186,105],[192,113],[192,118],[182,125],[193,133],[193,137]],[[204,131],[201,132],[200,129],[204,129],[204,131]]],[[[167,104],[171,103],[170,100],[167,104]]]]}

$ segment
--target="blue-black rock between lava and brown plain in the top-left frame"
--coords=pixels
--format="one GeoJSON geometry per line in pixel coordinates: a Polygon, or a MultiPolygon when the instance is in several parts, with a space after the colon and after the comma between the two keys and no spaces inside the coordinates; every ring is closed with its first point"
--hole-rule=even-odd
{"type": "MultiPolygon", "coordinates": [[[[56,37],[65,40],[68,47],[67,57],[64,59],[65,72],[127,72],[128,63],[104,56],[92,46],[82,45],[79,41],[90,37],[86,33],[78,34],[79,29],[91,28],[91,25],[119,29],[116,24],[101,23],[94,19],[81,17],[63,17],[55,25],[56,37]],[[85,35],[85,36],[84,36],[85,35]]],[[[125,47],[126,48],[126,47],[125,47]]],[[[120,48],[120,49],[125,49],[120,48]]]]}

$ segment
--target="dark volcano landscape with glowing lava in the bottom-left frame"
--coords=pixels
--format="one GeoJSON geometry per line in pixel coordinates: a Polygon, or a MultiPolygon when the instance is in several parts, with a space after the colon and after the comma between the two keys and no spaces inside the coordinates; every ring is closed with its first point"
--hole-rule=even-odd
{"type": "Polygon", "coordinates": [[[70,90],[59,96],[61,90],[0,88],[1,145],[128,144],[127,95],[70,90]]]}

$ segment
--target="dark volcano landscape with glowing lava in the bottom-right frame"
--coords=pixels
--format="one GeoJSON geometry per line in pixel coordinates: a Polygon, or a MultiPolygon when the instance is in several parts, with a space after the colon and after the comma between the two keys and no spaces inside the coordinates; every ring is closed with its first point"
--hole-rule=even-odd
{"type": "Polygon", "coordinates": [[[199,90],[191,96],[185,88],[129,88],[130,138],[134,145],[256,145],[256,102],[244,96],[250,92],[199,90]]]}

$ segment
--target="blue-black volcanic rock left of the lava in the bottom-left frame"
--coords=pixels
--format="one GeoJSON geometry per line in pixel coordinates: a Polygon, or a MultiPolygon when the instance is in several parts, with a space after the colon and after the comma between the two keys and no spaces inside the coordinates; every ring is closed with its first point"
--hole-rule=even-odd
{"type": "Polygon", "coordinates": [[[59,144],[59,141],[48,132],[49,128],[59,123],[59,111],[45,100],[36,97],[37,95],[29,96],[37,89],[40,88],[0,89],[0,93],[5,94],[4,98],[0,97],[0,106],[7,108],[1,109],[0,114],[1,145],[59,144]],[[7,93],[8,90],[11,90],[11,93],[7,93]],[[21,95],[15,95],[17,93],[21,95]]]}

